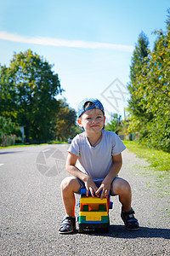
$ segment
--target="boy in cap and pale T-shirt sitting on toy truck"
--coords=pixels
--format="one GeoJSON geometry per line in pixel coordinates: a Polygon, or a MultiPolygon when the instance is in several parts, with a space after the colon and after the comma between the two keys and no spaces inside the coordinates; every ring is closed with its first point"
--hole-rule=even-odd
{"type": "Polygon", "coordinates": [[[76,229],[75,196],[82,188],[100,198],[118,195],[122,203],[121,217],[127,230],[139,230],[138,220],[131,208],[131,188],[117,174],[122,167],[122,151],[126,148],[112,131],[105,131],[105,111],[98,99],[88,98],[78,105],[78,125],[84,132],[77,135],[68,149],[66,171],[73,177],[65,177],[61,183],[61,195],[65,218],[59,226],[60,234],[76,229]],[[99,192],[101,191],[101,195],[99,192]]]}

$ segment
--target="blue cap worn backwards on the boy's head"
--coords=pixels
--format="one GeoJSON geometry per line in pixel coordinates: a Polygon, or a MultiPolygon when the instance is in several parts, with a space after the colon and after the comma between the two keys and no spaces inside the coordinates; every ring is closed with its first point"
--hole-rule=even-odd
{"type": "Polygon", "coordinates": [[[78,117],[80,117],[82,115],[82,113],[84,113],[85,111],[93,109],[93,108],[99,108],[105,114],[104,107],[103,107],[102,103],[99,102],[98,99],[86,98],[82,102],[80,102],[78,105],[78,108],[77,108],[78,117]],[[94,106],[91,106],[91,107],[85,109],[84,105],[86,102],[93,102],[94,106]]]}

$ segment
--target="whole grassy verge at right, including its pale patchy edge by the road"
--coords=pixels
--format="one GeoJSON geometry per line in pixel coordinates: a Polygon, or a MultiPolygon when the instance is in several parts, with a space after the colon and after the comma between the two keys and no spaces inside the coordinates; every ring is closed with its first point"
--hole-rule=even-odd
{"type": "Polygon", "coordinates": [[[161,150],[146,148],[137,142],[124,141],[123,143],[129,151],[150,164],[149,166],[139,166],[140,174],[151,178],[146,186],[156,186],[160,191],[156,196],[170,195],[170,154],[161,150]]]}

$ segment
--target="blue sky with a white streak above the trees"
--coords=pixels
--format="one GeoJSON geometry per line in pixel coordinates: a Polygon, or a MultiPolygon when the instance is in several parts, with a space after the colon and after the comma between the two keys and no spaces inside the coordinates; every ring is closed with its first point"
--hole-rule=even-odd
{"type": "Polygon", "coordinates": [[[0,63],[31,49],[59,74],[71,108],[97,97],[111,113],[127,106],[129,66],[139,33],[153,47],[156,29],[166,29],[169,1],[5,0],[0,9],[0,63]]]}

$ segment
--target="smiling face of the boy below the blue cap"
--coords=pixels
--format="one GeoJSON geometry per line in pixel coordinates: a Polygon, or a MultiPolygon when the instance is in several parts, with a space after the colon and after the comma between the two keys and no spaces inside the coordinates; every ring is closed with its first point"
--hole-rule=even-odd
{"type": "Polygon", "coordinates": [[[104,113],[99,108],[89,109],[77,119],[78,125],[88,132],[101,131],[105,125],[104,113]]]}

